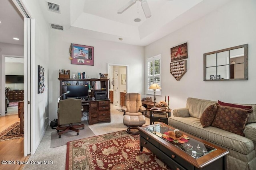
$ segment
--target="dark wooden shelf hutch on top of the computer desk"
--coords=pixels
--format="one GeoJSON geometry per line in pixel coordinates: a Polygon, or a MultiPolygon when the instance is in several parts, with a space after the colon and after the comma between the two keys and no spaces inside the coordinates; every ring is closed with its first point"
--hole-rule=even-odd
{"type": "Polygon", "coordinates": [[[89,86],[89,96],[94,97],[95,91],[106,91],[108,98],[108,80],[109,79],[76,79],[76,78],[58,78],[60,80],[60,96],[67,92],[67,86],[89,86]]]}

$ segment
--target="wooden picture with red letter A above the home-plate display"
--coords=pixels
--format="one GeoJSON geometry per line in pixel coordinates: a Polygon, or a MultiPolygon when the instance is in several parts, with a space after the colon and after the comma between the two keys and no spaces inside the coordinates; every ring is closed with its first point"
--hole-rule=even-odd
{"type": "Polygon", "coordinates": [[[171,48],[171,62],[188,58],[188,43],[171,48]]]}

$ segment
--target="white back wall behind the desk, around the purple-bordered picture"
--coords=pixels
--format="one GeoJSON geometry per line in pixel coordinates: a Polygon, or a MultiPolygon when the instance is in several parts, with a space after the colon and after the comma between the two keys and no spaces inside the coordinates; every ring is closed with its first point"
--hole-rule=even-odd
{"type": "Polygon", "coordinates": [[[144,47],[126,45],[111,41],[91,39],[70,28],[66,31],[51,30],[49,49],[49,113],[50,119],[57,118],[57,98],[60,96],[58,70],[70,70],[70,74],[85,71],[90,78],[99,78],[99,72],[107,73],[108,63],[129,65],[129,90],[144,91],[144,47]],[[94,47],[94,66],[71,64],[69,48],[71,43],[94,47]]]}

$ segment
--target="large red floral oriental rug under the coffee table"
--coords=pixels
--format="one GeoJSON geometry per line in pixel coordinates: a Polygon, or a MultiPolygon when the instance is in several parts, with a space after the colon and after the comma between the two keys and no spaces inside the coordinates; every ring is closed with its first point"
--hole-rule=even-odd
{"type": "Polygon", "coordinates": [[[126,131],[68,142],[66,170],[169,170],[139,142],[126,131]]]}

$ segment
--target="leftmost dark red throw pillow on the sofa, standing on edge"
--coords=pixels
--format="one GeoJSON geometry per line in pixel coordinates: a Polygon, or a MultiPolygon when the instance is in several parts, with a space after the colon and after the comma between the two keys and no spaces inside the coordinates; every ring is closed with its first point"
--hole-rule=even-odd
{"type": "Polygon", "coordinates": [[[208,127],[212,124],[212,121],[214,120],[214,117],[216,115],[217,106],[215,104],[208,106],[202,116],[200,117],[200,122],[203,125],[203,127],[208,127]]]}

